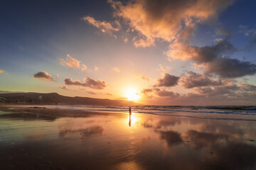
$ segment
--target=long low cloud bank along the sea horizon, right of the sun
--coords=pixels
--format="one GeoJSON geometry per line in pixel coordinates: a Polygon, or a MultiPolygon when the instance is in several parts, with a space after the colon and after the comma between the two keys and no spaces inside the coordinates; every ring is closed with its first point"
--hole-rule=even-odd
{"type": "Polygon", "coordinates": [[[196,86],[186,94],[159,89],[144,89],[144,95],[151,95],[151,101],[157,98],[162,104],[181,105],[254,105],[256,102],[256,86],[242,84],[233,79],[223,80],[219,86],[196,86]]]}

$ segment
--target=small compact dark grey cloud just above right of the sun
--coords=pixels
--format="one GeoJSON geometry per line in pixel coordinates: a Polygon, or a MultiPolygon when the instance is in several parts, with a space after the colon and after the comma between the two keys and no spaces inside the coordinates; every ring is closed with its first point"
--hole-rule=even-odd
{"type": "Polygon", "coordinates": [[[155,86],[176,86],[178,84],[178,79],[179,77],[164,73],[163,77],[157,80],[158,83],[155,86]]]}

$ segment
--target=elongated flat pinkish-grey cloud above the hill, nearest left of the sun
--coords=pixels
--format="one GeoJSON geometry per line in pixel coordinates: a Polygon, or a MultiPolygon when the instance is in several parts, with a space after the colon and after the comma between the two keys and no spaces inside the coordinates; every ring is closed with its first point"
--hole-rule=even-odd
{"type": "Polygon", "coordinates": [[[106,87],[105,81],[102,81],[102,80],[95,81],[90,77],[85,77],[84,81],[82,82],[78,80],[73,81],[73,79],[70,79],[70,78],[65,79],[64,82],[68,86],[87,86],[87,87],[90,87],[91,89],[97,89],[97,90],[105,89],[106,87]]]}

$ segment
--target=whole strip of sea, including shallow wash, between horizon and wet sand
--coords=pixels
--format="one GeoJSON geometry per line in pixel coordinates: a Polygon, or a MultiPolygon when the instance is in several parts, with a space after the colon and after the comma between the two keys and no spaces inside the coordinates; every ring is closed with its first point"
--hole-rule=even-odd
{"type": "MultiPolygon", "coordinates": [[[[128,113],[127,106],[28,106],[75,111],[108,111],[128,113]]],[[[133,113],[179,116],[186,118],[256,121],[256,106],[132,106],[133,113]]]]}

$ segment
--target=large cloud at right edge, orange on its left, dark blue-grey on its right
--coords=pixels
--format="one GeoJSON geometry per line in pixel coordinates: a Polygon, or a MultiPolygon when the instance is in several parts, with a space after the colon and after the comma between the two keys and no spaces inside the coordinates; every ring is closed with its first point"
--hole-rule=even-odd
{"type": "Polygon", "coordinates": [[[238,78],[256,73],[256,64],[233,59],[227,55],[237,49],[228,38],[218,41],[215,45],[204,47],[179,45],[170,50],[168,56],[180,60],[192,60],[196,67],[210,74],[217,74],[223,78],[238,78]]]}

